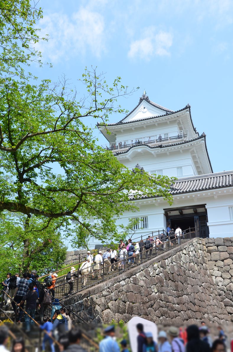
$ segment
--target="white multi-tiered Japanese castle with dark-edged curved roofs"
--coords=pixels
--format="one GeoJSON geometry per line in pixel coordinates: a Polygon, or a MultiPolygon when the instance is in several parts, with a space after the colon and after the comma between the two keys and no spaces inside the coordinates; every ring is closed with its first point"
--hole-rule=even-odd
{"type": "MultiPolygon", "coordinates": [[[[139,212],[125,213],[119,224],[140,218],[143,229],[137,237],[166,229],[168,224],[174,229],[193,228],[200,237],[233,236],[233,171],[213,173],[206,135],[196,131],[189,105],[172,111],[149,100],[144,91],[128,115],[108,124],[111,134],[97,126],[107,139],[104,147],[127,168],[137,165],[149,173],[178,178],[171,188],[171,206],[160,197],[130,195],[139,212]]],[[[89,246],[96,244],[93,239],[89,246]]]]}

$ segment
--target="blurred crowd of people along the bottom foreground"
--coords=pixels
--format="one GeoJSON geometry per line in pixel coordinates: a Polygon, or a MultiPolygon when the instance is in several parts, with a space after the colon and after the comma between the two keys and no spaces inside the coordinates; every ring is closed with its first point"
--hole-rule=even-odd
{"type": "MultiPolygon", "coordinates": [[[[50,346],[51,352],[85,352],[80,346],[82,333],[75,326],[68,327],[69,323],[62,314],[62,310],[55,310],[55,318],[52,323],[48,316],[44,316],[40,329],[44,331],[42,351],[46,345],[50,346]],[[54,332],[58,330],[56,335],[54,332]]],[[[155,341],[152,331],[144,332],[143,324],[138,323],[137,350],[133,352],[226,352],[226,340],[224,332],[219,327],[218,338],[214,341],[209,335],[208,327],[202,325],[190,325],[186,329],[178,329],[174,326],[168,328],[167,332],[159,331],[155,341]]],[[[100,352],[129,352],[126,339],[118,343],[115,338],[115,326],[111,325],[104,329],[105,337],[99,343],[100,352]]],[[[6,346],[9,332],[5,326],[0,326],[0,351],[8,352],[6,346]]],[[[130,336],[129,336],[130,338],[130,336]]],[[[12,352],[25,352],[25,344],[22,338],[16,339],[12,344],[12,352]]],[[[233,352],[233,340],[231,341],[231,352],[233,352]]]]}

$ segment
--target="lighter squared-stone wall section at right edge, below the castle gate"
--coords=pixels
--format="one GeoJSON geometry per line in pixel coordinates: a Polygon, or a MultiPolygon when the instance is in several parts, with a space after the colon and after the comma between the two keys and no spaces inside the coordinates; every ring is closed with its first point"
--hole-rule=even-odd
{"type": "MultiPolygon", "coordinates": [[[[223,302],[233,318],[233,237],[206,238],[209,272],[223,302]]],[[[233,321],[233,319],[232,319],[233,321]]]]}

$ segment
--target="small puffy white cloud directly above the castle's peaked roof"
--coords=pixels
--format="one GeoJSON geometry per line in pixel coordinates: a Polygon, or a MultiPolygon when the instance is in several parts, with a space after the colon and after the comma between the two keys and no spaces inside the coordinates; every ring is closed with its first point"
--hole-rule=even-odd
{"type": "Polygon", "coordinates": [[[159,31],[156,33],[154,27],[146,28],[144,38],[135,40],[130,45],[128,57],[140,58],[149,61],[153,56],[168,56],[172,45],[172,34],[159,31]]]}

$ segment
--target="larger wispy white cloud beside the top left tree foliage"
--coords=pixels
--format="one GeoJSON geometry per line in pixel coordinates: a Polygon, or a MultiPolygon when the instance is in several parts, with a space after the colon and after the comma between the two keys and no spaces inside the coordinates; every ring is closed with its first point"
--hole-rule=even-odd
{"type": "Polygon", "coordinates": [[[38,49],[52,62],[80,57],[88,51],[100,57],[105,51],[104,19],[88,7],[81,7],[71,18],[64,13],[45,15],[39,26],[40,36],[49,34],[50,38],[40,42],[38,49]]]}

